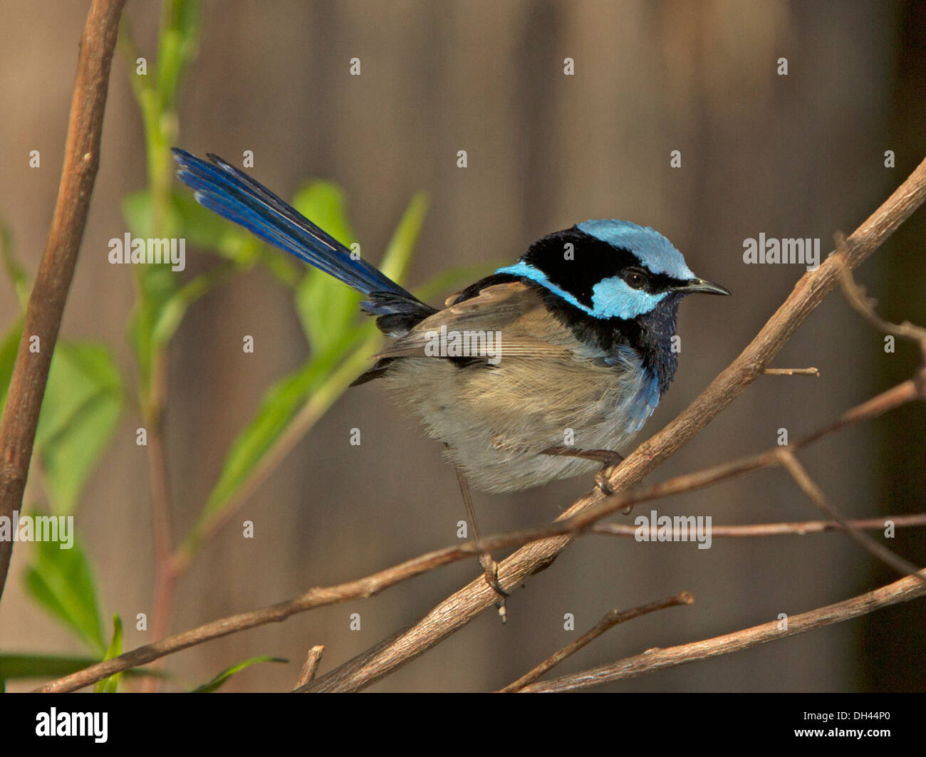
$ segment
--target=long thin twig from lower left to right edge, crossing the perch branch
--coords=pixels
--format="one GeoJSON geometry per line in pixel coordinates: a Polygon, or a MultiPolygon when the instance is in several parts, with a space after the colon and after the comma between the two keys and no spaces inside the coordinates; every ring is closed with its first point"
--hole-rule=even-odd
{"type": "MultiPolygon", "coordinates": [[[[836,422],[827,427],[824,432],[816,432],[803,440],[795,441],[794,449],[806,446],[810,441],[817,441],[826,433],[844,428],[850,423],[880,416],[903,403],[917,399],[919,393],[912,380],[905,381],[893,389],[882,392],[877,397],[862,403],[847,411],[836,422]]],[[[123,670],[138,665],[150,663],[173,652],[202,644],[212,639],[219,639],[232,633],[246,630],[268,623],[279,623],[290,615],[303,613],[315,607],[321,607],[338,602],[370,597],[383,589],[387,589],[400,581],[419,576],[441,565],[467,559],[473,555],[495,549],[510,549],[526,544],[532,540],[543,540],[555,536],[572,535],[581,532],[594,524],[594,521],[610,515],[618,510],[632,507],[635,503],[649,502],[671,494],[684,491],[703,489],[719,481],[738,476],[763,467],[779,465],[778,456],[780,447],[775,447],[765,453],[750,455],[731,463],[724,463],[707,468],[703,471],[684,474],[676,478],[669,478],[658,484],[642,490],[631,490],[625,494],[612,497],[606,502],[596,503],[582,513],[569,518],[557,520],[542,527],[522,529],[519,531],[490,536],[480,540],[467,541],[454,547],[445,547],[441,550],[426,552],[425,554],[407,560],[399,565],[374,573],[368,577],[359,578],[333,587],[309,589],[301,597],[287,602],[279,602],[269,607],[253,610],[248,613],[232,615],[220,620],[206,623],[203,626],[184,631],[166,639],[151,644],[145,644],[130,652],[120,654],[111,660],[90,665],[69,676],[63,676],[50,681],[36,691],[73,691],[94,683],[106,676],[112,676],[123,670]]],[[[484,577],[482,585],[485,586],[484,577]]],[[[486,586],[486,589],[488,587],[486,586]]],[[[494,591],[489,589],[494,598],[494,591]]],[[[301,689],[306,690],[306,689],[301,689]]]]}

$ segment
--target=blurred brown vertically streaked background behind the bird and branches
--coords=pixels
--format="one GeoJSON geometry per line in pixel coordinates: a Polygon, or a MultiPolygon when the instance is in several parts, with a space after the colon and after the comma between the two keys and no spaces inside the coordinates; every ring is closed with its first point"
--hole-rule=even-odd
{"type": "MultiPolygon", "coordinates": [[[[0,214],[34,273],[56,196],[77,41],[87,4],[2,0],[0,214]],[[32,149],[42,168],[31,169],[32,149]]],[[[138,43],[154,57],[155,2],[130,2],[138,43]]],[[[912,2],[207,2],[200,52],[181,95],[181,145],[240,160],[284,197],[308,177],[341,183],[365,254],[376,260],[417,190],[431,210],[410,283],[462,263],[514,260],[534,239],[585,218],[619,217],[665,233],[700,275],[734,296],[682,305],[680,368],[645,436],[679,413],[790,292],[796,266],[745,266],[743,241],[849,232],[926,155],[926,6],[912,2]],[[362,75],[348,75],[348,60],[362,75]],[[563,75],[564,57],[575,76],[563,75]],[[788,59],[788,75],[776,61],[788,59]],[[456,167],[457,150],[469,168],[456,167]],[[682,168],[669,168],[669,151],[682,168]],[[896,168],[884,168],[894,150],[896,168]]],[[[94,203],[63,334],[113,345],[131,386],[125,324],[131,271],[106,262],[120,236],[120,199],[145,184],[141,119],[117,56],[94,203]]],[[[926,322],[920,211],[857,278],[882,315],[926,322]]],[[[188,254],[196,270],[209,262],[188,254]]],[[[17,307],[0,285],[0,326],[17,307]]],[[[839,294],[818,308],[776,361],[820,378],[758,380],[651,480],[669,478],[799,435],[908,378],[906,344],[882,335],[839,294]]],[[[180,538],[215,482],[262,392],[305,358],[288,292],[260,269],[195,305],[170,354],[168,454],[180,538]],[[253,334],[255,355],[241,337],[253,334]]],[[[921,406],[851,428],[802,453],[850,515],[922,510],[921,406]]],[[[126,620],[127,647],[152,640],[131,619],[150,613],[153,552],[144,448],[131,412],[86,490],[77,528],[104,613],[126,620]]],[[[542,523],[590,485],[573,479],[512,496],[477,494],[482,529],[542,523]]],[[[32,487],[26,502],[40,501],[32,487]]],[[[818,517],[781,471],[657,503],[714,524],[818,517]]],[[[648,512],[649,508],[644,508],[648,512]]],[[[436,442],[387,403],[376,383],[348,391],[248,500],[257,538],[225,527],[181,580],[174,631],[277,602],[453,543],[462,517],[453,470],[436,442]],[[348,443],[361,428],[363,444],[348,443]]],[[[923,565],[922,532],[892,544],[923,565]]],[[[4,651],[81,652],[24,594],[29,545],[18,545],[0,605],[4,651]]],[[[293,686],[307,648],[321,673],[418,619],[477,575],[444,567],[364,602],[219,639],[169,658],[199,683],[252,655],[288,657],[232,679],[229,690],[293,686]],[[358,612],[359,631],[348,630],[358,612]]],[[[619,627],[564,664],[581,670],[836,602],[893,580],[838,534],[694,544],[587,537],[518,590],[509,622],[483,614],[374,690],[500,687],[614,606],[682,589],[693,607],[619,627]],[[577,631],[563,630],[572,613],[577,631]]],[[[922,690],[923,604],[613,687],[658,690],[922,690]]]]}

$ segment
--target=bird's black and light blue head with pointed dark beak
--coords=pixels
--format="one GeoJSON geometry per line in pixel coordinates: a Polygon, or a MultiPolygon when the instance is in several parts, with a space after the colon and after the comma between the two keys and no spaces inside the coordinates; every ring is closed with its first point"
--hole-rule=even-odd
{"type": "Polygon", "coordinates": [[[644,316],[694,292],[730,294],[696,277],[658,231],[613,219],[548,234],[496,273],[532,279],[596,318],[644,316]]]}

